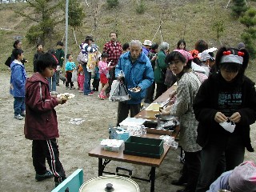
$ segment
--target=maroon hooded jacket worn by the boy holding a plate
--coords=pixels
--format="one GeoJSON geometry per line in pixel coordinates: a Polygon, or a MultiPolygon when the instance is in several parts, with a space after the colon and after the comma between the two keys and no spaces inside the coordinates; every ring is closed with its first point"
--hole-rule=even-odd
{"type": "Polygon", "coordinates": [[[48,81],[35,73],[26,80],[25,138],[46,140],[58,138],[55,106],[58,101],[50,96],[48,81]]]}

